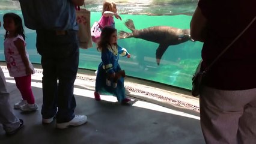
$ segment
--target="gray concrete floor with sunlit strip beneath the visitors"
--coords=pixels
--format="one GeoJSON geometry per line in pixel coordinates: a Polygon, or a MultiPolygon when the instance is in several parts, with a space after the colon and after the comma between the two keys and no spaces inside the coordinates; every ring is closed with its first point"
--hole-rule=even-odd
{"type": "MultiPolygon", "coordinates": [[[[1,67],[5,73],[10,102],[13,105],[21,96],[13,77],[9,77],[4,65],[1,67]]],[[[93,71],[87,70],[79,70],[80,78],[75,82],[74,93],[77,103],[75,113],[87,115],[88,122],[64,130],[56,129],[55,121],[43,125],[40,114],[42,74],[40,66],[35,67],[38,69],[32,76],[31,85],[35,101],[40,107],[36,112],[31,113],[14,110],[14,113],[23,119],[25,127],[14,136],[7,137],[0,126],[1,144],[204,143],[198,99],[190,97],[189,92],[180,89],[176,89],[178,92],[173,92],[174,89],[166,85],[127,78],[125,83],[126,89],[128,88],[127,95],[133,100],[129,106],[117,103],[116,98],[112,96],[102,96],[102,101],[95,101],[93,98],[95,76],[93,71]]]]}

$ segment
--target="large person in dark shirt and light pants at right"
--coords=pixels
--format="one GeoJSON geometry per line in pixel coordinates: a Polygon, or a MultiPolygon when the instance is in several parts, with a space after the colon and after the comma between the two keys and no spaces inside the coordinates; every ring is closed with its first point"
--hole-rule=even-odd
{"type": "Polygon", "coordinates": [[[206,144],[256,143],[255,0],[230,2],[200,0],[190,22],[190,36],[204,43],[199,92],[206,144]]]}

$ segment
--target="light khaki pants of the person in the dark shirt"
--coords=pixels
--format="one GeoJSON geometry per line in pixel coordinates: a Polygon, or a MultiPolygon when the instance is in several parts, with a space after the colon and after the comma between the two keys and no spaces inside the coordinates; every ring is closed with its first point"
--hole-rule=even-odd
{"type": "Polygon", "coordinates": [[[201,128],[206,143],[256,143],[256,89],[200,92],[201,128]]]}

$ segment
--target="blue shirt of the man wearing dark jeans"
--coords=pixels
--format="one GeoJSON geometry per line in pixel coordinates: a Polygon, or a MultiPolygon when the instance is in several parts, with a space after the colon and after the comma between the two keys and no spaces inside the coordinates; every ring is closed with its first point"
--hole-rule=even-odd
{"type": "Polygon", "coordinates": [[[78,30],[71,0],[19,0],[29,29],[78,30]]]}

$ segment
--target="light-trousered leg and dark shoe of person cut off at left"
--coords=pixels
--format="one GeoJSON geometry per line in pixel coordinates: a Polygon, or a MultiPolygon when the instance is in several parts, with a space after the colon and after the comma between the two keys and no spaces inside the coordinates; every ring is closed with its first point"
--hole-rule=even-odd
{"type": "Polygon", "coordinates": [[[20,126],[20,120],[14,115],[9,103],[9,92],[6,89],[6,82],[2,68],[0,67],[0,124],[5,131],[16,130],[20,126]]]}

